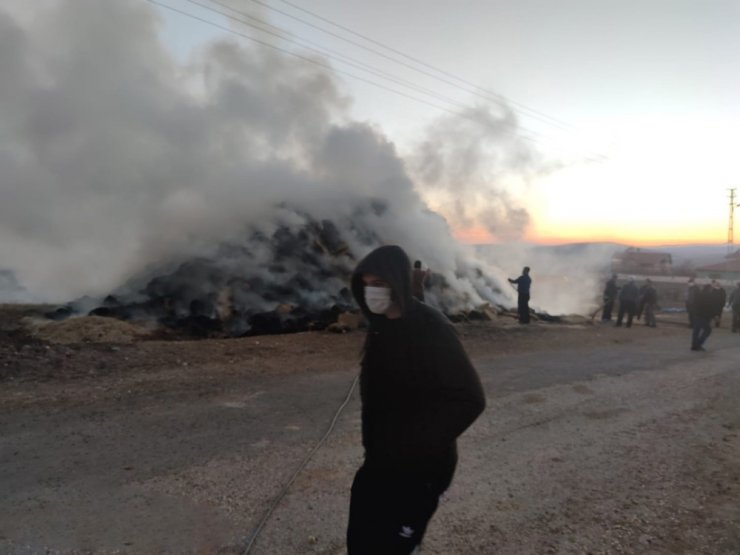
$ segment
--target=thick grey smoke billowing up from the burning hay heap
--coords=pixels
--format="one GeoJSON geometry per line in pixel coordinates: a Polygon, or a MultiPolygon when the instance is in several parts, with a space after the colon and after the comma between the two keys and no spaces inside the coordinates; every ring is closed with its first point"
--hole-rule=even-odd
{"type": "MultiPolygon", "coordinates": [[[[465,119],[435,124],[409,173],[391,142],[349,120],[329,71],[232,40],[181,63],[159,24],[144,2],[0,6],[0,267],[28,297],[140,286],[224,244],[326,219],[357,256],[399,243],[424,260],[451,286],[433,302],[512,302],[501,271],[478,271],[419,194],[464,184],[456,205],[441,196],[431,207],[454,225],[520,233],[526,211],[480,177],[529,166],[529,151],[506,138],[511,114],[471,112],[488,118],[482,135],[465,119]],[[483,204],[488,212],[469,208],[483,204]]],[[[276,279],[263,246],[223,264],[276,279]]],[[[343,285],[327,280],[315,294],[343,285]]]]}

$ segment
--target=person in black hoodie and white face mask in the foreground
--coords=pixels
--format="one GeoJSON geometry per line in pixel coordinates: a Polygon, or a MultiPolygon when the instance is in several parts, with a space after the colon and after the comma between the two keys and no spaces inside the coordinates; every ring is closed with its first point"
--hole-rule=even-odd
{"type": "Polygon", "coordinates": [[[397,246],[368,254],[352,294],[369,322],[360,371],[365,460],[352,483],[349,555],[411,553],[457,465],[456,439],[485,397],[455,329],[411,294],[397,246]]]}

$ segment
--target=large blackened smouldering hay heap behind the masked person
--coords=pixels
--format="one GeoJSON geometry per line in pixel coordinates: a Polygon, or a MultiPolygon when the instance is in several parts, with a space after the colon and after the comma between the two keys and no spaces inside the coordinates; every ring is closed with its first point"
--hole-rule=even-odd
{"type": "MultiPolygon", "coordinates": [[[[387,207],[361,209],[377,215],[387,207]]],[[[96,304],[79,299],[48,317],[63,321],[87,314],[150,321],[188,337],[356,329],[359,317],[351,313],[357,307],[347,285],[359,255],[381,239],[363,227],[361,217],[335,224],[287,206],[281,210],[287,223],[269,233],[252,229],[242,242],[222,243],[208,256],[149,269],[96,304]]],[[[427,302],[453,321],[497,318],[501,290],[496,281],[462,259],[448,264],[430,275],[427,302]]]]}

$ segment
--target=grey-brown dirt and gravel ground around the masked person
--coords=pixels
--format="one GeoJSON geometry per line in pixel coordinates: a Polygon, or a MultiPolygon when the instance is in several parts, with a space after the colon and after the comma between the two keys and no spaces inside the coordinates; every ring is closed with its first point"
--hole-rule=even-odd
{"type": "MultiPolygon", "coordinates": [[[[356,391],[312,450],[362,332],[69,342],[37,311],[0,309],[0,552],[239,553],[278,496],[252,553],[343,552],[356,391]]],[[[684,318],[459,325],[488,408],[422,552],[740,553],[740,335],[690,353],[684,318]]]]}

